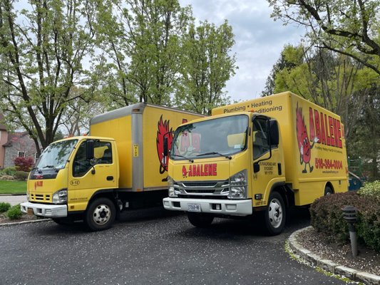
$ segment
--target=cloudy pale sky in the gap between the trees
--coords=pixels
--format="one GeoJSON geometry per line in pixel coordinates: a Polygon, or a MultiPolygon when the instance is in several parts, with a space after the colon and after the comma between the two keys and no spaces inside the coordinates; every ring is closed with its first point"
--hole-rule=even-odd
{"type": "Polygon", "coordinates": [[[181,6],[192,6],[197,21],[209,21],[217,26],[227,19],[235,35],[232,53],[236,56],[235,76],[225,90],[232,100],[260,97],[265,81],[284,45],[297,45],[304,28],[284,26],[270,17],[272,8],[267,0],[179,0],[181,6]]]}

